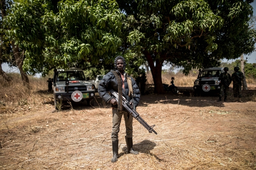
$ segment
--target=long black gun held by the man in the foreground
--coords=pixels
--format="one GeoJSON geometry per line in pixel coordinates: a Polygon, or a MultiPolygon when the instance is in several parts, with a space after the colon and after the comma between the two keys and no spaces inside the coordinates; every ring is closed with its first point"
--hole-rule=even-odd
{"type": "MultiPolygon", "coordinates": [[[[117,103],[118,103],[118,93],[115,92],[115,91],[112,90],[112,89],[109,90],[109,92],[115,97],[115,99],[116,99],[116,101],[117,101],[117,103]]],[[[145,122],[145,121],[140,117],[140,115],[138,114],[138,112],[136,112],[136,110],[134,110],[134,109],[132,108],[132,106],[131,106],[130,103],[124,98],[124,96],[123,96],[123,107],[124,107],[124,109],[128,112],[128,114],[132,115],[137,121],[139,121],[140,124],[142,124],[142,125],[148,130],[149,133],[154,132],[154,133],[157,135],[156,131],[153,129],[153,127],[154,127],[155,125],[149,126],[148,123],[145,122]]]]}

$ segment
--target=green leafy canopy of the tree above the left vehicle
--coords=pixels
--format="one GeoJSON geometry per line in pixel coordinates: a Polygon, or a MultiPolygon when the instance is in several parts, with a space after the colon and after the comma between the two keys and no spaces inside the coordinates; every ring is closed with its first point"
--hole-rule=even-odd
{"type": "Polygon", "coordinates": [[[20,0],[12,5],[9,36],[24,49],[23,68],[47,74],[52,68],[113,62],[122,45],[123,14],[115,1],[20,0]],[[18,3],[20,2],[20,3],[18,3]]]}

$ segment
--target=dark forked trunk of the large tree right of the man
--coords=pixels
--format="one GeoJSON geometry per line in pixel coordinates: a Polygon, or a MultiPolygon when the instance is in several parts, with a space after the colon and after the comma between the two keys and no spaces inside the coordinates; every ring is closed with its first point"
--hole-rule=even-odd
{"type": "Polygon", "coordinates": [[[147,58],[148,65],[150,67],[153,81],[154,81],[154,92],[158,94],[164,93],[163,82],[162,82],[162,66],[164,61],[156,59],[156,66],[151,55],[148,52],[145,52],[144,55],[147,58]]]}

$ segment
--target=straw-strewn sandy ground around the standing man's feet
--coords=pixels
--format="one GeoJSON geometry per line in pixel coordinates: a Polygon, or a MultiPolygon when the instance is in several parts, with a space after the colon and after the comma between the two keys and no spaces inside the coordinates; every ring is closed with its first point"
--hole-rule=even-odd
{"type": "Polygon", "coordinates": [[[137,111],[158,134],[133,119],[139,155],[128,154],[122,121],[116,163],[110,162],[112,110],[98,95],[94,107],[56,112],[48,103],[1,114],[0,169],[256,169],[256,85],[243,92],[243,103],[180,90],[141,96],[137,111]]]}

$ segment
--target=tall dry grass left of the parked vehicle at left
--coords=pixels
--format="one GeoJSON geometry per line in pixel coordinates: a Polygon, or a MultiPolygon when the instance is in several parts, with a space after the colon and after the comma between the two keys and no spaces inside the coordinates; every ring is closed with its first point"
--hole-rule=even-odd
{"type": "Polygon", "coordinates": [[[6,82],[0,76],[0,116],[17,115],[19,111],[37,110],[45,106],[51,106],[52,93],[48,93],[48,78],[34,78],[29,76],[31,90],[24,87],[19,74],[12,73],[11,82],[6,82]]]}

